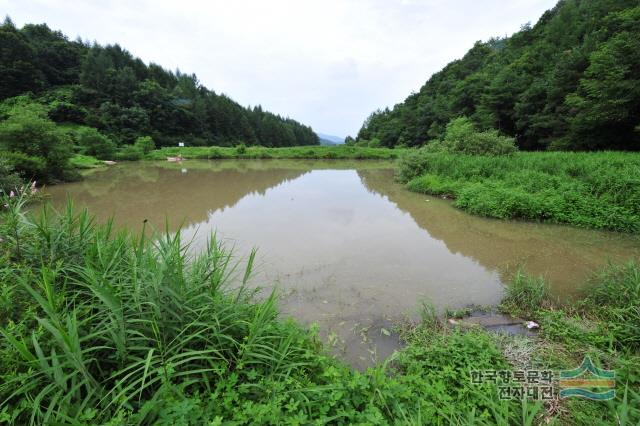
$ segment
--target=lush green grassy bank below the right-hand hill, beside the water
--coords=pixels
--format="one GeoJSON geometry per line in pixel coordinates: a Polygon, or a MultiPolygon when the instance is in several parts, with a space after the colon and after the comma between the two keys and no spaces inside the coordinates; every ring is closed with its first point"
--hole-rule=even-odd
{"type": "Polygon", "coordinates": [[[409,151],[398,178],[455,198],[472,214],[640,232],[640,154],[520,152],[471,156],[409,151]]]}

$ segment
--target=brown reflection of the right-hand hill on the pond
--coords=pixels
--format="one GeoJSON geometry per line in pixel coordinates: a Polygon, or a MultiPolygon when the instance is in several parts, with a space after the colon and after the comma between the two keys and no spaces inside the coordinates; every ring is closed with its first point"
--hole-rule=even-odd
{"type": "Polygon", "coordinates": [[[471,257],[508,281],[519,268],[541,275],[559,297],[572,296],[607,262],[640,256],[637,236],[540,223],[485,219],[449,201],[419,196],[392,183],[390,170],[358,171],[363,184],[386,196],[452,253],[471,257]]]}

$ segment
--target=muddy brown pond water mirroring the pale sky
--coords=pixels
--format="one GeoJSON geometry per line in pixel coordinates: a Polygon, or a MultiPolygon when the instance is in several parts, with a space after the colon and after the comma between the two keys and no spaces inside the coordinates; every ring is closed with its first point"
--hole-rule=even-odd
{"type": "Polygon", "coordinates": [[[405,190],[384,161],[119,164],[46,191],[118,227],[181,227],[196,251],[212,232],[235,253],[257,247],[254,284],[358,368],[398,346],[388,332],[422,301],[496,304],[518,268],[572,297],[607,261],[640,257],[637,236],[471,216],[405,190]]]}

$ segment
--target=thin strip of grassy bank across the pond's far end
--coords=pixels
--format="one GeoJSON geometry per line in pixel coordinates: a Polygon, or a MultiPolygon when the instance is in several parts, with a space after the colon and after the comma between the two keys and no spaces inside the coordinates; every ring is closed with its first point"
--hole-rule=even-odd
{"type": "Polygon", "coordinates": [[[304,158],[304,159],[380,159],[398,158],[400,149],[362,148],[354,146],[303,146],[287,148],[266,148],[262,146],[240,145],[237,147],[185,147],[161,148],[150,152],[146,158],[166,160],[181,154],[184,158],[304,158]]]}

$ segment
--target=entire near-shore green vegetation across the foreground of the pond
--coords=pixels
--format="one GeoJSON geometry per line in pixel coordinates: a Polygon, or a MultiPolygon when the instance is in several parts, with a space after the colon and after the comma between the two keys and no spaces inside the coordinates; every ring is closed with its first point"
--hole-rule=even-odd
{"type": "Polygon", "coordinates": [[[72,206],[24,213],[2,197],[0,422],[9,424],[637,424],[640,267],[611,265],[570,307],[517,275],[499,309],[537,336],[449,327],[428,303],[398,324],[406,346],[354,371],[317,329],[249,290],[244,261],[212,238],[188,257],[180,233],[116,233],[72,206]],[[611,401],[501,401],[471,370],[615,369],[611,401]]]}

